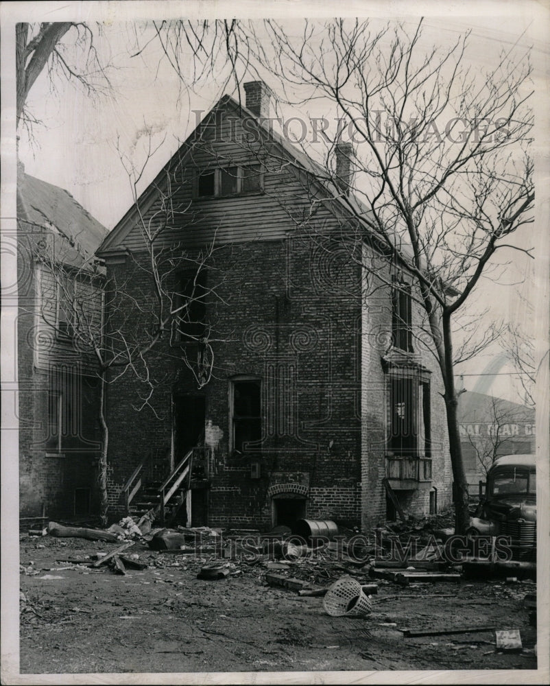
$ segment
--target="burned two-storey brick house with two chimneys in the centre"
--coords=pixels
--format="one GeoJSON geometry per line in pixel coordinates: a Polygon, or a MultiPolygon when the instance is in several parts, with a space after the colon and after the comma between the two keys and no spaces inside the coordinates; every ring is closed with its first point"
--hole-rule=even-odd
{"type": "Polygon", "coordinates": [[[169,475],[188,454],[193,525],[368,530],[395,517],[386,477],[411,514],[446,506],[439,372],[414,342],[409,285],[349,211],[353,151],[337,146],[323,180],[272,130],[269,88],[244,88],[246,107],[222,97],[97,252],[139,300],[143,226],[159,226],[159,246],[184,255],[172,302],[193,294],[149,356],[155,412],[132,414],[130,378],[109,386],[112,506],[144,458],[169,475]]]}

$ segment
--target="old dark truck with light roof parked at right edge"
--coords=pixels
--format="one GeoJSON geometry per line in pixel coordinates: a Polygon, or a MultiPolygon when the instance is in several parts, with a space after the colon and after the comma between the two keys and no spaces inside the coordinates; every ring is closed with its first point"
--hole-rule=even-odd
{"type": "Polygon", "coordinates": [[[466,532],[477,536],[509,536],[512,559],[536,560],[536,459],[534,455],[505,455],[487,474],[486,492],[477,517],[466,532]]]}

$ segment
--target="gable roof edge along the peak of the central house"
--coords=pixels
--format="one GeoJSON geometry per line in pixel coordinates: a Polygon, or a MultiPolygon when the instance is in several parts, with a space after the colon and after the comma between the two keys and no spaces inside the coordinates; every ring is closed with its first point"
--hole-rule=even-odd
{"type": "MultiPolygon", "coordinates": [[[[187,137],[186,141],[184,141],[184,143],[178,148],[176,153],[173,156],[171,156],[167,164],[163,166],[163,168],[160,170],[156,178],[150,183],[147,189],[145,189],[145,191],[141,193],[141,196],[139,196],[138,198],[138,203],[142,204],[142,209],[144,204],[146,205],[147,202],[154,198],[154,191],[156,187],[162,182],[163,174],[165,173],[165,171],[167,169],[170,169],[171,165],[173,165],[176,161],[181,161],[182,159],[184,160],[190,154],[191,148],[188,152],[185,152],[183,157],[180,156],[182,150],[184,150],[185,147],[189,145],[189,141],[195,139],[195,137],[200,133],[200,130],[206,128],[206,126],[208,126],[208,123],[215,118],[216,113],[222,108],[230,108],[230,110],[233,110],[237,114],[237,116],[255,121],[259,131],[263,134],[265,139],[272,143],[275,143],[276,146],[280,149],[280,152],[285,154],[287,158],[294,160],[297,169],[303,169],[307,173],[311,174],[311,176],[313,176],[313,178],[316,180],[318,187],[320,187],[320,189],[323,189],[323,191],[326,193],[327,200],[329,200],[330,202],[335,202],[337,206],[339,206],[339,209],[346,211],[348,213],[357,213],[359,216],[370,215],[370,210],[368,210],[368,208],[366,208],[366,206],[364,206],[355,196],[353,196],[352,194],[346,196],[344,193],[342,193],[342,191],[337,187],[337,185],[335,185],[335,183],[331,181],[330,174],[328,173],[327,169],[324,169],[322,165],[313,161],[311,157],[309,157],[309,155],[300,150],[298,146],[294,145],[277,132],[274,132],[273,130],[269,129],[267,125],[265,125],[264,123],[261,123],[257,115],[255,115],[248,108],[237,102],[230,95],[224,95],[221,99],[219,99],[217,104],[215,104],[215,106],[210,110],[208,115],[206,115],[206,117],[204,117],[204,119],[198,124],[198,126],[195,127],[195,129],[191,132],[189,137],[187,137]]],[[[135,214],[136,204],[132,205],[130,209],[128,209],[128,211],[125,213],[125,215],[123,215],[121,220],[117,222],[115,228],[113,228],[112,231],[108,234],[108,236],[104,239],[103,243],[101,244],[101,246],[99,246],[99,249],[97,250],[98,255],[102,255],[106,252],[109,252],[110,250],[116,251],[117,247],[119,249],[123,248],[123,240],[125,236],[128,235],[128,233],[130,233],[130,231],[133,228],[132,220],[134,219],[135,214]]]]}

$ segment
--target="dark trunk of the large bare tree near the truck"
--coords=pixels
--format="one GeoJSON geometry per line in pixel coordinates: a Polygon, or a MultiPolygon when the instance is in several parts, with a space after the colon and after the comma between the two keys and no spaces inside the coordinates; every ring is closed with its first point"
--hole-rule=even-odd
{"type": "Polygon", "coordinates": [[[444,401],[447,415],[447,431],[449,433],[449,452],[451,453],[451,466],[453,468],[455,534],[464,534],[470,525],[470,512],[468,509],[468,482],[466,481],[466,472],[464,471],[464,460],[462,459],[462,446],[460,445],[460,431],[458,427],[458,396],[455,390],[450,314],[443,314],[442,327],[445,350],[443,379],[445,386],[444,401]]]}

